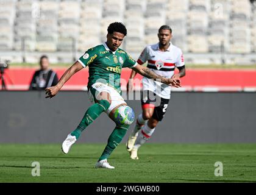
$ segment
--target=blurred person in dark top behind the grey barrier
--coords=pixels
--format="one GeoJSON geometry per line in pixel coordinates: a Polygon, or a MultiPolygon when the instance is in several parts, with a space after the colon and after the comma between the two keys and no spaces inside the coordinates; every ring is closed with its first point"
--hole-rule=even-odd
{"type": "Polygon", "coordinates": [[[29,90],[44,90],[58,83],[57,74],[49,68],[49,60],[46,55],[40,57],[40,69],[35,71],[30,82],[29,90]]]}

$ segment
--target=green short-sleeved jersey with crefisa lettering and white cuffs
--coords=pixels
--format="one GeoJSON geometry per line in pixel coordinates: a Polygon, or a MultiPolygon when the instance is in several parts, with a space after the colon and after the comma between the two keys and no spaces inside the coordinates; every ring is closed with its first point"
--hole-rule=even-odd
{"type": "Polygon", "coordinates": [[[136,64],[123,49],[118,48],[113,52],[105,43],[88,49],[77,61],[82,66],[89,67],[88,90],[93,83],[101,82],[114,87],[120,94],[121,69],[133,68],[136,64]]]}

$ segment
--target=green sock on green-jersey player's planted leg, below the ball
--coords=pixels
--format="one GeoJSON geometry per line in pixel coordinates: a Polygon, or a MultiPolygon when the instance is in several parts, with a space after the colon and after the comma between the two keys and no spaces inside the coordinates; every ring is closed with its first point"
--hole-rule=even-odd
{"type": "Polygon", "coordinates": [[[124,135],[126,135],[127,129],[129,125],[116,126],[110,137],[107,140],[107,146],[105,147],[100,160],[107,159],[108,156],[113,152],[114,149],[119,145],[119,143],[123,140],[124,135]]]}

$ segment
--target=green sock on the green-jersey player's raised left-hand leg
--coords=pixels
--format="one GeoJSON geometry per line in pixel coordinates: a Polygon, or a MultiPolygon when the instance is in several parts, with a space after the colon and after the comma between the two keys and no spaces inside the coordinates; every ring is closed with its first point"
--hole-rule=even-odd
{"type": "Polygon", "coordinates": [[[96,104],[91,105],[88,108],[87,112],[85,112],[84,118],[80,122],[79,126],[71,133],[71,135],[75,136],[76,139],[80,137],[80,134],[87,126],[91,124],[102,112],[108,109],[110,106],[108,101],[101,100],[96,104]]]}

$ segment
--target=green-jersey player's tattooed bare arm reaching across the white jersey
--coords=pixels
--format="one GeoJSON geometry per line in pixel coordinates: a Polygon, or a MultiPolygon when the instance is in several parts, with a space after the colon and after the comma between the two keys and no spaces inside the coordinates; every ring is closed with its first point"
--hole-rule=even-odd
{"type": "Polygon", "coordinates": [[[136,71],[138,74],[141,74],[144,77],[147,77],[149,79],[154,79],[157,80],[159,82],[165,83],[166,85],[171,85],[172,87],[181,87],[180,86],[180,79],[167,79],[165,77],[162,77],[158,74],[155,74],[153,71],[151,71],[151,69],[145,67],[145,66],[141,66],[141,65],[137,65],[134,68],[132,68],[134,71],[136,71]]]}

